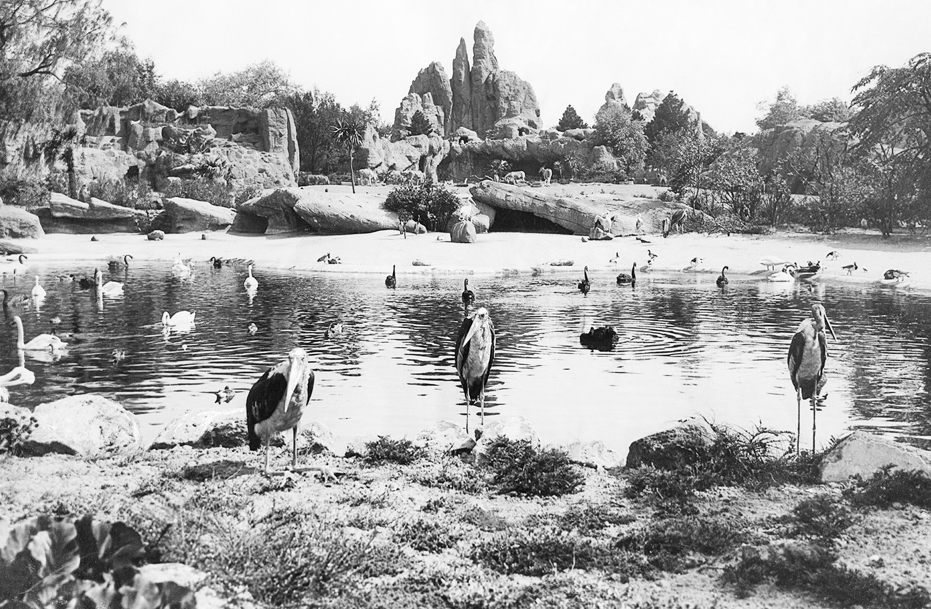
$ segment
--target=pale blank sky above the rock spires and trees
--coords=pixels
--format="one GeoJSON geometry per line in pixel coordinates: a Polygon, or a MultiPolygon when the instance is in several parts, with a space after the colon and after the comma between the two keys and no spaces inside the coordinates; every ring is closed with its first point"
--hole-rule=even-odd
{"type": "Polygon", "coordinates": [[[752,132],[782,86],[800,103],[839,97],[875,65],[931,51],[931,2],[826,0],[103,0],[167,78],[274,60],[348,106],[391,122],[432,61],[452,75],[460,38],[485,21],[499,67],[533,86],[544,126],[572,104],[588,123],[613,83],[675,91],[716,130],[752,132]]]}

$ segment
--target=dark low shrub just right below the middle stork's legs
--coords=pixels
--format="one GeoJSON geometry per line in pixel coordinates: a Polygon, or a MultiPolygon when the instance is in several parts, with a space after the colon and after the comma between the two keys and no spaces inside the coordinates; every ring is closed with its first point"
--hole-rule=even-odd
{"type": "Polygon", "coordinates": [[[489,443],[482,464],[492,472],[492,484],[500,493],[562,496],[573,493],[585,480],[564,452],[537,450],[530,441],[505,436],[489,443]]]}

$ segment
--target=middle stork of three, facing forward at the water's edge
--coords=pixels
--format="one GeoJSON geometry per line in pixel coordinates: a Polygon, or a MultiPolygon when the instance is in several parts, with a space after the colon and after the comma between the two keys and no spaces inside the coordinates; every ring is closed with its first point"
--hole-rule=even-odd
{"type": "Polygon", "coordinates": [[[494,324],[482,307],[463,320],[456,337],[456,371],[466,393],[466,432],[468,406],[476,400],[481,408],[481,426],[485,426],[485,385],[493,363],[494,324]]]}

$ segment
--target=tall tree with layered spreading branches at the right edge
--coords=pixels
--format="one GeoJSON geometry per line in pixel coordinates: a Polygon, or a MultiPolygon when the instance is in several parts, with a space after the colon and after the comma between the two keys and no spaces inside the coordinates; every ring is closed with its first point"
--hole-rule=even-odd
{"type": "Polygon", "coordinates": [[[931,53],[876,66],[853,90],[852,150],[876,174],[870,207],[888,236],[903,216],[931,216],[931,53]]]}

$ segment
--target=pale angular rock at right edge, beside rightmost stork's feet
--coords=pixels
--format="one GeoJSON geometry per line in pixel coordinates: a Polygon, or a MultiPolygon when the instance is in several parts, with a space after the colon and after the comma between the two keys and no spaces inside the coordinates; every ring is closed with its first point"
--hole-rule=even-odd
{"type": "Polygon", "coordinates": [[[870,478],[886,465],[898,470],[922,470],[931,476],[931,457],[904,444],[854,431],[821,461],[821,482],[846,482],[850,476],[870,478]]]}

